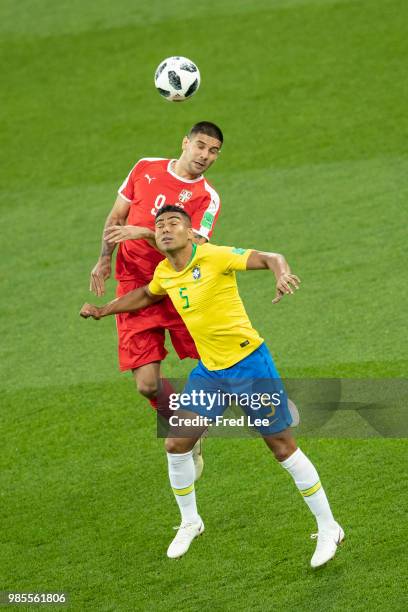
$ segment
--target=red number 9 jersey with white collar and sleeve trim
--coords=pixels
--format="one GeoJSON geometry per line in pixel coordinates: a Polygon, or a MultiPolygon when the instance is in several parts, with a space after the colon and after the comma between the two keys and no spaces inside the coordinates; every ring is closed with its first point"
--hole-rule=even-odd
{"type": "MultiPolygon", "coordinates": [[[[144,158],[136,163],[118,191],[130,202],[126,223],[154,230],[156,213],[172,204],[185,210],[191,217],[194,232],[208,240],[220,210],[218,193],[203,176],[193,180],[177,176],[171,169],[174,161],[144,158]]],[[[116,257],[116,278],[147,285],[162,259],[164,255],[146,240],[121,242],[116,257]]]]}

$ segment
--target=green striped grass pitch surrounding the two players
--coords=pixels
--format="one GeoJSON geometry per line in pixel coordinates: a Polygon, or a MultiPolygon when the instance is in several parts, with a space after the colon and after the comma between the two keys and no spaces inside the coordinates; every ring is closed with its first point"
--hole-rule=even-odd
{"type": "Polygon", "coordinates": [[[208,440],[206,533],[172,563],[154,415],[114,321],[78,317],[118,185],[209,119],[214,242],[283,252],[303,281],[271,307],[266,274],[240,276],[281,373],[404,376],[407,22],[406,0],[2,0],[0,590],[65,589],[78,612],[407,609],[405,441],[300,440],[347,534],[312,572],[314,522],[262,443],[208,440]],[[202,73],[178,105],[152,83],[174,54],[202,73]]]}

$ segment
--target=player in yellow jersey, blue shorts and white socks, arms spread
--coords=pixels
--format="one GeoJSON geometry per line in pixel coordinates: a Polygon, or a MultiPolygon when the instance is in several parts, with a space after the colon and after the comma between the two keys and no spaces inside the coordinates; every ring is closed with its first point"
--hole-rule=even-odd
{"type": "Polygon", "coordinates": [[[133,312],[168,295],[200,354],[183,392],[182,409],[171,417],[172,429],[165,442],[170,484],[181,513],[181,525],[168,548],[168,557],[181,557],[204,531],[197,511],[192,448],[208,420],[217,422],[222,416],[227,407],[225,396],[236,394],[238,403],[248,418],[252,417],[280,465],[291,474],[315,516],[318,534],[311,565],[323,565],[334,557],[344,531],[333,517],[316,468],[297,447],[289,429],[292,418],[286,394],[272,357],[245,312],[235,272],[273,272],[273,303],[293,294],[299,279],[282,255],[194,244],[190,218],[176,206],[165,206],[157,213],[155,238],[166,259],[158,264],[150,284],[105,306],[85,304],[80,314],[100,319],[133,312]],[[242,404],[244,396],[256,396],[256,407],[253,402],[242,404]]]}

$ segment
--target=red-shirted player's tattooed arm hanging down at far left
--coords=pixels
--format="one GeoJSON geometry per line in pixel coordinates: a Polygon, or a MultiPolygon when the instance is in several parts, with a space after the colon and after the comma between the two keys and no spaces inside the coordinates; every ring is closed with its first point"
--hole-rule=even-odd
{"type": "Polygon", "coordinates": [[[116,243],[108,242],[105,238],[105,230],[111,225],[123,225],[129,213],[130,202],[127,202],[120,195],[116,198],[115,204],[106,219],[102,234],[102,247],[99,259],[91,271],[91,281],[89,290],[93,291],[98,297],[105,294],[105,281],[110,277],[112,270],[112,253],[116,243]]]}

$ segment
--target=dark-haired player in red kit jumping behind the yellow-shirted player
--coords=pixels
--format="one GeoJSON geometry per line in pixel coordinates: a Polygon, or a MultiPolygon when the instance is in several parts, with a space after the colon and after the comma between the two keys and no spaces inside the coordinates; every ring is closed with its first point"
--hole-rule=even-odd
{"type": "MultiPolygon", "coordinates": [[[[91,272],[91,291],[104,295],[116,244],[117,296],[151,281],[164,259],[155,248],[155,215],[166,204],[190,215],[198,244],[210,239],[220,198],[203,175],[217,159],[222,143],[221,130],[202,121],[183,139],[179,159],[144,158],[136,163],[106,220],[101,254],[91,272]]],[[[157,408],[160,363],[167,355],[165,330],[180,359],[199,358],[193,339],[168,298],[137,313],[118,315],[117,328],[120,369],[132,370],[138,391],[157,408]]]]}

